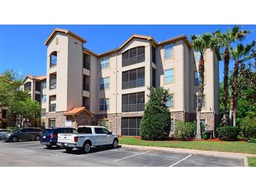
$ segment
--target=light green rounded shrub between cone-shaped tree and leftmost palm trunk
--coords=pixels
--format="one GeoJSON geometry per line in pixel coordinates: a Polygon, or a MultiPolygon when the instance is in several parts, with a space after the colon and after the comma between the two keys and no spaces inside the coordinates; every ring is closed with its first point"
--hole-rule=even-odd
{"type": "Polygon", "coordinates": [[[176,121],[173,137],[177,140],[192,139],[195,137],[196,123],[176,121]]]}

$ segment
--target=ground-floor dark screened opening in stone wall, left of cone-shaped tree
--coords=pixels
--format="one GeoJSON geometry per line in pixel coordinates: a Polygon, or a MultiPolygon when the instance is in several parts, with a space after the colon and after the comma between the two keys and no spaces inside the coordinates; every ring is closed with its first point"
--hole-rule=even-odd
{"type": "Polygon", "coordinates": [[[121,118],[121,135],[140,136],[140,121],[142,117],[121,118]]]}

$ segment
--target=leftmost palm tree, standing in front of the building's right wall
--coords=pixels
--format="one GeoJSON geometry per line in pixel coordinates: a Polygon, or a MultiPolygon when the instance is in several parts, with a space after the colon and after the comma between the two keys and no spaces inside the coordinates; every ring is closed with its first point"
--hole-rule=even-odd
{"type": "Polygon", "coordinates": [[[203,103],[203,90],[204,90],[204,60],[203,57],[206,55],[206,50],[215,49],[216,41],[213,34],[206,33],[203,35],[192,35],[191,46],[194,50],[200,53],[200,60],[198,64],[198,74],[199,74],[199,86],[198,86],[198,96],[196,105],[196,139],[201,140],[201,109],[203,103]]]}

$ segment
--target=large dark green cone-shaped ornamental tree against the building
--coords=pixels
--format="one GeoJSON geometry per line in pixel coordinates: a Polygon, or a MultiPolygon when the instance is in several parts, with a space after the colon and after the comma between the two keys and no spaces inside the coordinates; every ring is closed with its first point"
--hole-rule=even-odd
{"type": "Polygon", "coordinates": [[[140,122],[140,137],[146,140],[168,139],[170,134],[170,111],[166,106],[170,95],[164,88],[148,88],[149,101],[140,122]]]}

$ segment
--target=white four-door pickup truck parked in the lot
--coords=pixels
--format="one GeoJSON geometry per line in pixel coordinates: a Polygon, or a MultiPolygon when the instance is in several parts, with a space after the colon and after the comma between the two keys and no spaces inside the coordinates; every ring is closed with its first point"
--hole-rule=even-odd
{"type": "Polygon", "coordinates": [[[74,148],[81,149],[84,153],[89,153],[91,147],[112,145],[117,148],[119,139],[101,126],[79,126],[74,133],[59,133],[58,146],[62,146],[70,152],[74,148]]]}

